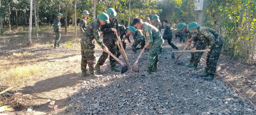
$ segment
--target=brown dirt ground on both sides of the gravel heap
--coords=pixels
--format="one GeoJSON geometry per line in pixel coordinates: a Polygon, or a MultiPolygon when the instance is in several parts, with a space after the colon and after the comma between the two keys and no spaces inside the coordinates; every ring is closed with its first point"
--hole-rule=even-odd
{"type": "MultiPolygon", "coordinates": [[[[3,113],[49,114],[53,111],[53,108],[49,107],[50,102],[61,103],[83,81],[88,80],[88,78],[81,77],[80,39],[74,38],[74,30],[69,30],[67,34],[62,31],[61,34],[62,47],[59,49],[51,47],[51,40],[55,37],[52,30],[39,31],[39,37],[32,37],[33,45],[30,47],[27,47],[24,43],[27,39],[26,31],[13,30],[0,36],[0,87],[8,88],[12,86],[13,88],[8,93],[14,94],[8,100],[3,100],[3,98],[0,100],[0,102],[3,102],[2,106],[10,105],[14,108],[14,111],[3,113]],[[17,54],[20,56],[16,56],[17,54]],[[40,71],[27,78],[16,77],[11,79],[7,77],[13,68],[24,66],[40,67],[40,71]],[[31,112],[27,112],[29,106],[33,107],[31,112]]],[[[78,32],[78,34],[80,33],[78,32]]],[[[180,43],[179,39],[173,39],[173,42],[179,49],[182,49],[185,44],[180,43]]],[[[168,44],[165,42],[164,45],[168,44]]],[[[131,50],[130,46],[128,48],[131,50]]],[[[97,59],[101,53],[102,50],[97,47],[97,59]]],[[[206,54],[203,55],[203,59],[206,59],[206,54]]],[[[230,59],[225,53],[222,53],[218,63],[218,72],[222,77],[218,76],[216,79],[229,81],[252,103],[256,104],[255,66],[230,59]]],[[[105,62],[101,70],[107,69],[108,64],[109,60],[105,62]]],[[[201,62],[200,64],[205,63],[201,62]]],[[[228,82],[226,84],[229,85],[228,82]]],[[[58,106],[58,110],[54,114],[65,110],[65,102],[66,100],[58,106]]]]}

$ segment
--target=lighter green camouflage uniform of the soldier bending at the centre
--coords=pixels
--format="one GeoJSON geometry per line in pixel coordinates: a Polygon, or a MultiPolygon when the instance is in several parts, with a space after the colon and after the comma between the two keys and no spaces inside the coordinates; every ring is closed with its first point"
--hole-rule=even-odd
{"type": "Polygon", "coordinates": [[[150,49],[150,51],[147,59],[147,72],[151,73],[153,66],[157,67],[158,53],[160,51],[162,44],[164,43],[164,40],[162,38],[160,31],[148,23],[142,24],[142,33],[143,36],[145,37],[145,40],[148,43],[152,43],[150,46],[148,46],[148,49],[150,49]]]}

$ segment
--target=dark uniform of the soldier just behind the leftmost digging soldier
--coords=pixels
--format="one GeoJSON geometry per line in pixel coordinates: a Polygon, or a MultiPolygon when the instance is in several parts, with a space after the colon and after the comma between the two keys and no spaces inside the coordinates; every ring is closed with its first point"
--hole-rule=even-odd
{"type": "MultiPolygon", "coordinates": [[[[114,32],[112,31],[112,25],[109,22],[106,22],[105,25],[101,25],[100,31],[102,31],[103,34],[103,43],[105,44],[106,48],[109,49],[109,51],[116,56],[117,55],[117,47],[115,43],[115,38],[116,36],[114,32]]],[[[109,54],[103,52],[102,55],[99,57],[99,60],[97,62],[98,65],[103,65],[103,63],[106,61],[106,58],[108,58],[109,54]]],[[[116,65],[116,60],[110,56],[110,64],[111,66],[116,65]]]]}

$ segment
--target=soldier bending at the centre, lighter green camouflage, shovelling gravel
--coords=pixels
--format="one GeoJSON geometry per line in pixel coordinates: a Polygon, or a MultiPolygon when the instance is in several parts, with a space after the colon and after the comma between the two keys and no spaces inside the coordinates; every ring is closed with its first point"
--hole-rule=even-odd
{"type": "Polygon", "coordinates": [[[145,37],[146,44],[140,51],[144,53],[146,48],[150,48],[147,59],[147,72],[146,75],[157,72],[158,53],[164,42],[161,32],[154,26],[143,22],[140,18],[133,19],[133,25],[138,29],[142,29],[143,36],[145,37]]]}

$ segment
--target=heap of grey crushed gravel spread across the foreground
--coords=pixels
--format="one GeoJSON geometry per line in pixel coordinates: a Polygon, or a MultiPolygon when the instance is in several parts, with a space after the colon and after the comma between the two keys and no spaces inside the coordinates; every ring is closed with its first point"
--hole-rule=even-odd
{"type": "MultiPolygon", "coordinates": [[[[230,86],[199,78],[196,74],[203,72],[204,62],[199,63],[199,71],[189,71],[184,64],[190,53],[174,61],[172,50],[165,42],[159,71],[150,76],[141,76],[147,69],[145,53],[139,60],[140,73],[130,69],[120,74],[108,67],[101,78],[87,79],[64,114],[256,114],[256,108],[230,86]]],[[[133,55],[131,47],[126,54],[131,64],[139,55],[133,55]]]]}

